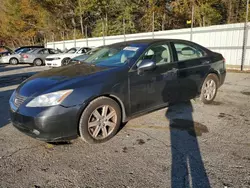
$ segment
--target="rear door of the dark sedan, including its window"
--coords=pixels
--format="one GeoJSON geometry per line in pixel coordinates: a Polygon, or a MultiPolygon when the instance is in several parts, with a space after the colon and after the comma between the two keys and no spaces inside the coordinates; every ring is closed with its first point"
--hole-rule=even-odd
{"type": "Polygon", "coordinates": [[[194,98],[209,73],[211,57],[193,43],[174,41],[171,46],[178,64],[180,100],[194,98]]]}

